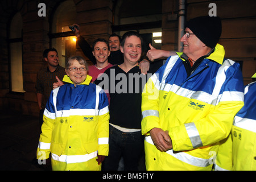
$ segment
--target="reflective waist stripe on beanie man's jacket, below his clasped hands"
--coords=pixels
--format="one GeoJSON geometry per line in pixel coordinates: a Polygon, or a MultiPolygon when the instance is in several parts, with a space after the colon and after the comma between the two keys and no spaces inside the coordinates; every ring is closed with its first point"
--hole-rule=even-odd
{"type": "MultiPolygon", "coordinates": [[[[146,142],[153,144],[152,138],[150,136],[145,137],[146,142]]],[[[173,150],[168,150],[166,151],[167,154],[170,154],[176,159],[181,160],[184,163],[191,164],[192,166],[197,166],[197,167],[207,167],[210,165],[209,159],[202,159],[202,158],[197,158],[195,156],[189,155],[185,152],[175,152],[173,150]]]]}

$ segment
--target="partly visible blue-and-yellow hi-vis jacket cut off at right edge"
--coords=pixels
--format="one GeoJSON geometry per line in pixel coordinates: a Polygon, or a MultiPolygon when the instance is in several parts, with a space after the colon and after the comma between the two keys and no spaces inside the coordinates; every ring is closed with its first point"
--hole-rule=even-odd
{"type": "Polygon", "coordinates": [[[221,143],[214,170],[256,170],[256,82],[245,87],[245,105],[234,118],[229,138],[221,143]]]}

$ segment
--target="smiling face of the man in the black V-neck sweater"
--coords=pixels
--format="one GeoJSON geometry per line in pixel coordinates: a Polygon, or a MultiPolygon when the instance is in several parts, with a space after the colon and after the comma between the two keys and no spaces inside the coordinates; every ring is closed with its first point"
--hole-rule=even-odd
{"type": "Polygon", "coordinates": [[[124,61],[129,61],[130,63],[137,63],[141,58],[142,45],[141,39],[135,35],[131,35],[126,38],[123,47],[120,47],[123,53],[124,61]]]}

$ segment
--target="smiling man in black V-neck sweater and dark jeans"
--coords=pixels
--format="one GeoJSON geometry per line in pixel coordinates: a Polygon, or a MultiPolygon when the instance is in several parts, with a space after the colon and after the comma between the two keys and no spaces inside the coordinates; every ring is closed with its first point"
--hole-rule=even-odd
{"type": "Polygon", "coordinates": [[[138,32],[126,32],[120,47],[123,63],[107,69],[94,81],[110,94],[109,156],[102,164],[102,170],[117,170],[121,156],[125,170],[138,170],[139,160],[144,157],[141,94],[144,84],[159,67],[151,67],[147,75],[141,73],[142,44],[138,32]]]}

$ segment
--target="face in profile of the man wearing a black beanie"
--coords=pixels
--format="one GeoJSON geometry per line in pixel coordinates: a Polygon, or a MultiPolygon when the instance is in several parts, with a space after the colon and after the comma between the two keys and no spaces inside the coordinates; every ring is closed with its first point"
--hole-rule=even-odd
{"type": "MultiPolygon", "coordinates": [[[[183,37],[180,39],[181,42],[183,42],[183,53],[187,55],[188,57],[201,57],[199,53],[201,52],[202,48],[205,47],[205,44],[201,42],[199,38],[193,32],[186,28],[185,32],[189,32],[189,38],[186,37],[186,35],[183,35],[183,37]]],[[[196,60],[195,60],[196,61],[196,60]]]]}

